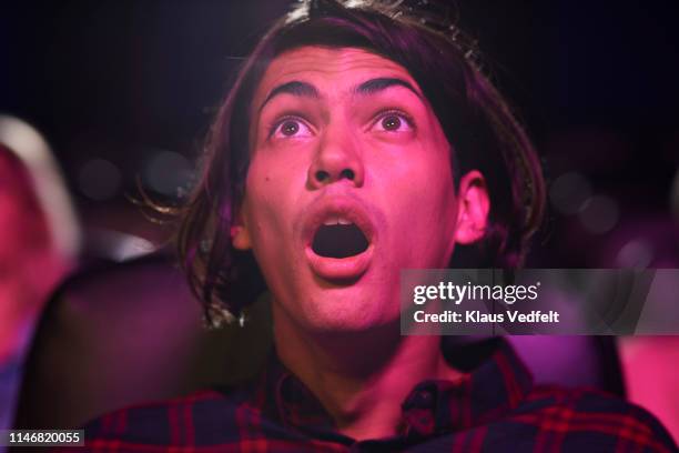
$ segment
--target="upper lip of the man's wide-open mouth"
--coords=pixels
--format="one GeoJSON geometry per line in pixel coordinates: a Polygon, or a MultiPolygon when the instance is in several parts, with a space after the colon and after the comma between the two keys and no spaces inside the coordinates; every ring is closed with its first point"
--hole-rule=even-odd
{"type": "Polygon", "coordinates": [[[304,245],[311,246],[321,225],[327,220],[337,218],[354,223],[365,234],[368,243],[374,242],[375,225],[362,203],[348,197],[333,197],[321,200],[304,219],[302,226],[304,245]]]}

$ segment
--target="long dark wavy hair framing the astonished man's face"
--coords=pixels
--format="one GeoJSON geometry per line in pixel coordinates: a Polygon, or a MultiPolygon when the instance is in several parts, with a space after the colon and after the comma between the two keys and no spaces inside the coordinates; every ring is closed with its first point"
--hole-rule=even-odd
{"type": "Polygon", "coordinates": [[[450,266],[521,265],[545,204],[536,151],[506,100],[479,69],[472,41],[455,24],[406,3],[300,2],[244,61],[210,130],[200,180],[181,209],[179,255],[210,324],[239,316],[265,290],[253,254],[233,248],[230,230],[250,164],[249,112],[254,91],[274,58],[303,46],[361,48],[412,74],[450,144],[454,177],[458,180],[469,170],[479,170],[490,195],[484,240],[456,249],[450,266]]]}

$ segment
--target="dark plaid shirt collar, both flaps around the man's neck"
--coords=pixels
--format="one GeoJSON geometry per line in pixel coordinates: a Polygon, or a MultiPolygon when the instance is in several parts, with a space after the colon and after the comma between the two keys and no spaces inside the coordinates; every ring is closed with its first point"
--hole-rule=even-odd
{"type": "MultiPolygon", "coordinates": [[[[426,380],[402,403],[402,434],[427,436],[487,424],[515,409],[533,386],[533,378],[504,339],[488,356],[455,382],[426,380]]],[[[445,344],[445,343],[444,343],[445,344]]],[[[465,346],[466,353],[473,345],[465,346]]],[[[464,349],[458,349],[464,351],[464,349]]],[[[448,351],[449,352],[449,351],[448,351]]],[[[444,355],[449,356],[444,351],[444,355]]],[[[255,385],[256,405],[267,416],[301,431],[332,431],[334,423],[314,394],[272,352],[255,385]]]]}

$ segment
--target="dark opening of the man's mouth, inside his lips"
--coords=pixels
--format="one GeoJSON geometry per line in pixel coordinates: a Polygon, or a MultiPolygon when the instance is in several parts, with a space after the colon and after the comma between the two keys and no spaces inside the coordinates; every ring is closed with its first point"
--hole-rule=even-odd
{"type": "Polygon", "coordinates": [[[365,233],[355,223],[335,219],[316,230],[312,250],[320,256],[343,259],[365,252],[368,245],[365,233]]]}

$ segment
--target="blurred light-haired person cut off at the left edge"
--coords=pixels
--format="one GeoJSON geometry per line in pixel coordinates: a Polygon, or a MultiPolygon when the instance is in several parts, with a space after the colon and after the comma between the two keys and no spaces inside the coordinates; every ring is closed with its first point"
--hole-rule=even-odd
{"type": "Polygon", "coordinates": [[[36,319],[78,254],[65,193],[40,135],[0,117],[0,429],[11,423],[36,319]]]}

